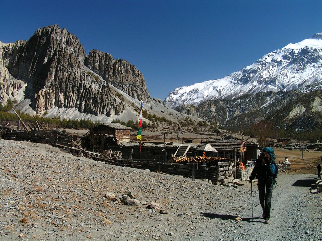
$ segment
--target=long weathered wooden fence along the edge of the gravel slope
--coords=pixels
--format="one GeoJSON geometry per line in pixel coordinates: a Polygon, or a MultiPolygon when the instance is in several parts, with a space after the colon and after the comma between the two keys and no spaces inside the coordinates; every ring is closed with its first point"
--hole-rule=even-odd
{"type": "MultiPolygon", "coordinates": [[[[42,129],[32,131],[5,132],[4,139],[26,140],[36,143],[51,144],[54,147],[67,148],[74,156],[83,156],[106,164],[134,167],[138,169],[149,169],[153,172],[166,173],[171,175],[182,175],[184,177],[207,178],[213,184],[222,184],[232,181],[234,171],[232,162],[214,162],[212,165],[199,165],[198,161],[191,163],[166,163],[157,160],[128,160],[111,159],[100,153],[84,150],[77,142],[77,137],[62,133],[58,130],[42,129]],[[193,168],[194,165],[194,168],[193,168]]],[[[198,158],[198,157],[196,157],[198,158]]]]}

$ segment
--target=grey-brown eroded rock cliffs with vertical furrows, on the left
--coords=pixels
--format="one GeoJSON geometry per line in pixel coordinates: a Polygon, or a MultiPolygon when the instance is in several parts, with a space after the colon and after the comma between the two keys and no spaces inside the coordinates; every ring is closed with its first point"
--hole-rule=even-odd
{"type": "Polygon", "coordinates": [[[31,99],[36,113],[57,106],[118,115],[125,103],[109,83],[134,98],[150,99],[143,75],[135,66],[112,56],[102,61],[104,55],[110,56],[94,50],[87,58],[78,38],[58,25],[38,29],[28,41],[0,42],[0,101],[4,104],[19,96],[31,99]],[[90,69],[87,63],[91,63],[90,69]]]}

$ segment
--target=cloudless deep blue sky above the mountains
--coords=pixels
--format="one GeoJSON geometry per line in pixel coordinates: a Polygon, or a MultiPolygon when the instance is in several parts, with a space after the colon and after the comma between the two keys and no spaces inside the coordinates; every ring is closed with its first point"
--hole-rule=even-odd
{"type": "Polygon", "coordinates": [[[142,73],[153,98],[219,79],[266,53],[322,32],[322,1],[7,1],[0,41],[58,24],[142,73]]]}

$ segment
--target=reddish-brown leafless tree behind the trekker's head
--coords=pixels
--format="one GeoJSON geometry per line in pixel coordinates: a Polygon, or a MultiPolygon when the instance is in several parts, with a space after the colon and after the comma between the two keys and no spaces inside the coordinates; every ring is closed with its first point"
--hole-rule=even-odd
{"type": "Polygon", "coordinates": [[[267,147],[270,142],[270,137],[272,135],[272,124],[266,120],[259,121],[255,123],[252,127],[252,134],[257,140],[257,144],[262,150],[264,147],[267,147]]]}

